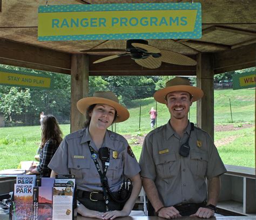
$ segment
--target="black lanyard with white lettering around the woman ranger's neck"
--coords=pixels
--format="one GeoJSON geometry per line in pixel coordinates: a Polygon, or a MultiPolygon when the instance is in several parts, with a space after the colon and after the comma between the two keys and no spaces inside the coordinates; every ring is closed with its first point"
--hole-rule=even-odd
{"type": "MultiPolygon", "coordinates": [[[[94,150],[93,150],[93,148],[92,148],[92,146],[90,144],[90,141],[87,141],[87,143],[88,143],[88,146],[89,146],[92,158],[93,158],[94,150]]],[[[110,155],[110,149],[109,149],[109,155],[110,155]]],[[[103,194],[104,194],[104,199],[105,199],[105,204],[106,204],[106,211],[109,211],[109,207],[107,207],[107,204],[109,203],[109,199],[107,198],[107,191],[106,191],[106,187],[105,187],[104,181],[107,181],[106,171],[107,171],[107,168],[109,167],[109,160],[110,160],[110,158],[108,156],[107,160],[104,163],[103,173],[102,173],[102,170],[100,169],[100,166],[99,166],[99,163],[97,161],[97,158],[92,159],[92,160],[95,163],[95,167],[96,167],[96,169],[97,169],[97,171],[99,173],[100,182],[102,182],[103,194]]]]}

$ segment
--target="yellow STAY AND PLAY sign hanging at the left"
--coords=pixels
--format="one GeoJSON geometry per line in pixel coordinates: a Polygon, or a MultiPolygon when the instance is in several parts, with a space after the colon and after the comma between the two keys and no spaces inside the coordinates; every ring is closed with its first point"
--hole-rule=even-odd
{"type": "Polygon", "coordinates": [[[0,71],[0,84],[22,87],[51,87],[51,78],[0,71]]]}

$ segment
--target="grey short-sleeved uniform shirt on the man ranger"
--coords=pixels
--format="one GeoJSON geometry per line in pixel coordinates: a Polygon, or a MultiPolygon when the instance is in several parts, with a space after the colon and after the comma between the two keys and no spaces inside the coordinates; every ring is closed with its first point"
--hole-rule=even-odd
{"type": "Polygon", "coordinates": [[[170,121],[150,132],[143,143],[139,164],[142,177],[156,184],[160,200],[166,207],[181,203],[201,203],[207,200],[205,177],[226,172],[217,148],[204,130],[195,127],[189,139],[190,155],[179,155],[181,144],[190,133],[191,124],[179,138],[170,121]]]}

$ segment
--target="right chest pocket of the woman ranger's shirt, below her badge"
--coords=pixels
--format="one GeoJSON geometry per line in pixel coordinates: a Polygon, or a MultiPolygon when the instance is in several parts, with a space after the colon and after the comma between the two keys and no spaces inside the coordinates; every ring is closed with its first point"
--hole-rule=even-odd
{"type": "Polygon", "coordinates": [[[110,159],[109,168],[107,168],[106,177],[111,183],[117,182],[123,175],[122,159],[110,159]]]}

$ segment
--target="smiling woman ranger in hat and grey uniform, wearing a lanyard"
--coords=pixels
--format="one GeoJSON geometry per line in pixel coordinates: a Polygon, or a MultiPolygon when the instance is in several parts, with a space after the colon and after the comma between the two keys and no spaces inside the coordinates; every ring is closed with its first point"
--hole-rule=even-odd
{"type": "Polygon", "coordinates": [[[86,116],[85,128],[64,138],[49,164],[51,177],[75,174],[78,214],[105,219],[128,216],[142,187],[140,167],[126,139],[107,128],[127,120],[129,112],[110,91],[80,99],[77,108],[86,116]],[[133,187],[124,195],[119,192],[127,178],[133,187]]]}

